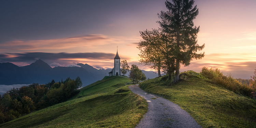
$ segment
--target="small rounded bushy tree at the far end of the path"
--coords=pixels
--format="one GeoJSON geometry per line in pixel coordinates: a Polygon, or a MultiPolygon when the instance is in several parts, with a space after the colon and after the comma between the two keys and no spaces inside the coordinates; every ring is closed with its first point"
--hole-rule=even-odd
{"type": "Polygon", "coordinates": [[[138,82],[142,79],[142,71],[138,68],[137,65],[131,65],[129,77],[132,79],[133,82],[138,82]]]}

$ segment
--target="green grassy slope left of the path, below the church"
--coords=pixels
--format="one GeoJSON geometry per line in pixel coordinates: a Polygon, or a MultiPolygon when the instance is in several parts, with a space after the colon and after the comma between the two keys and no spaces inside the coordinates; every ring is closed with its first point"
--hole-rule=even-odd
{"type": "Polygon", "coordinates": [[[116,76],[104,78],[81,88],[73,100],[34,112],[32,117],[29,114],[17,118],[0,127],[134,127],[146,113],[147,103],[125,87],[129,81],[116,76]]]}

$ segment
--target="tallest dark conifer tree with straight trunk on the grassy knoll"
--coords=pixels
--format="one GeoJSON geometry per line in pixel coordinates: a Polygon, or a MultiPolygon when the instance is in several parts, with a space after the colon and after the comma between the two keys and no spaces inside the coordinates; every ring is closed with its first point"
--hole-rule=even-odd
{"type": "Polygon", "coordinates": [[[194,0],[172,0],[166,1],[168,12],[161,11],[158,21],[161,30],[168,33],[167,41],[173,46],[172,56],[175,61],[175,82],[180,80],[180,63],[188,66],[190,61],[201,59],[204,53],[197,54],[204,48],[204,44],[197,44],[197,33],[200,27],[194,27],[193,20],[198,15],[197,5],[193,7],[194,0]]]}

